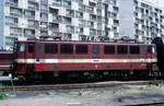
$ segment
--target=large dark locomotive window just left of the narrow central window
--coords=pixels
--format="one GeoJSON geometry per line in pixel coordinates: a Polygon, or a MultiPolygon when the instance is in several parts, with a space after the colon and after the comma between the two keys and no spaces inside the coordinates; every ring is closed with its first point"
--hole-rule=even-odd
{"type": "Polygon", "coordinates": [[[77,54],[87,54],[87,45],[77,45],[75,52],[77,54]]]}

